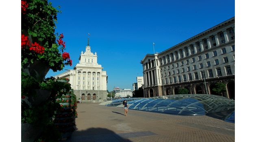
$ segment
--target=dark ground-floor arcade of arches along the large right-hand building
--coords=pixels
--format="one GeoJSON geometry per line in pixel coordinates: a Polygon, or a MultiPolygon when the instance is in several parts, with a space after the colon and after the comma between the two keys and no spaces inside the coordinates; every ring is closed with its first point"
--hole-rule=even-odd
{"type": "MultiPolygon", "coordinates": [[[[207,87],[207,93],[211,95],[219,95],[223,97],[228,97],[230,99],[235,99],[235,83],[234,81],[228,81],[228,82],[222,82],[226,85],[226,91],[224,91],[221,94],[216,93],[213,88],[215,88],[215,83],[216,82],[210,82],[210,84],[206,83],[207,87]]],[[[195,84],[183,84],[183,85],[165,85],[165,92],[163,91],[162,87],[162,94],[163,95],[176,95],[179,94],[179,89],[180,88],[186,88],[189,90],[188,94],[207,94],[206,89],[205,89],[205,84],[204,83],[195,83],[195,84]]],[[[159,96],[158,93],[161,92],[161,90],[157,87],[150,87],[150,88],[145,88],[145,97],[155,97],[159,96]]]]}

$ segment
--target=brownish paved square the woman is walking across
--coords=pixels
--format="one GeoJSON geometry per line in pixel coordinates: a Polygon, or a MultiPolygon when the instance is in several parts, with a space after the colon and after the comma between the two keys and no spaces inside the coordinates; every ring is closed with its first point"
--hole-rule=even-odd
{"type": "Polygon", "coordinates": [[[124,110],[95,103],[77,108],[77,130],[61,142],[234,142],[235,125],[208,116],[124,110]]]}

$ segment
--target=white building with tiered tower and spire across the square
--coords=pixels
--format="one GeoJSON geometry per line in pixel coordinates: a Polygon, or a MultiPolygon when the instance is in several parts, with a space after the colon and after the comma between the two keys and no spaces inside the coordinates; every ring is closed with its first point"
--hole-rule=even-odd
{"type": "Polygon", "coordinates": [[[107,75],[98,64],[97,53],[91,52],[88,45],[85,52],[81,52],[79,63],[69,71],[56,75],[56,77],[67,77],[75,94],[82,100],[106,100],[107,75]],[[80,96],[79,96],[80,95],[80,96]]]}

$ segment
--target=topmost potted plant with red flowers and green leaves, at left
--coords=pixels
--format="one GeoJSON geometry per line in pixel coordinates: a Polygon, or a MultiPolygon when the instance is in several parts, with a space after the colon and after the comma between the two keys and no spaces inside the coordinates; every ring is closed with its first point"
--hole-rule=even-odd
{"type": "Polygon", "coordinates": [[[63,34],[54,33],[58,12],[47,0],[22,0],[22,71],[39,81],[50,69],[72,66],[63,34]]]}

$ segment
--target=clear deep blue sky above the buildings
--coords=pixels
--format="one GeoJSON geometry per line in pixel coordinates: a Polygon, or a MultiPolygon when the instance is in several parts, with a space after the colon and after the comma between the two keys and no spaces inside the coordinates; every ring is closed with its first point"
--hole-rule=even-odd
{"type": "MultiPolygon", "coordinates": [[[[50,0],[61,6],[56,32],[63,33],[73,69],[90,36],[91,52],[108,75],[107,89],[132,88],[143,75],[140,61],[235,15],[234,0],[50,0]],[[155,43],[153,49],[153,42],[155,43]]],[[[50,70],[46,77],[64,72],[50,70]]]]}

